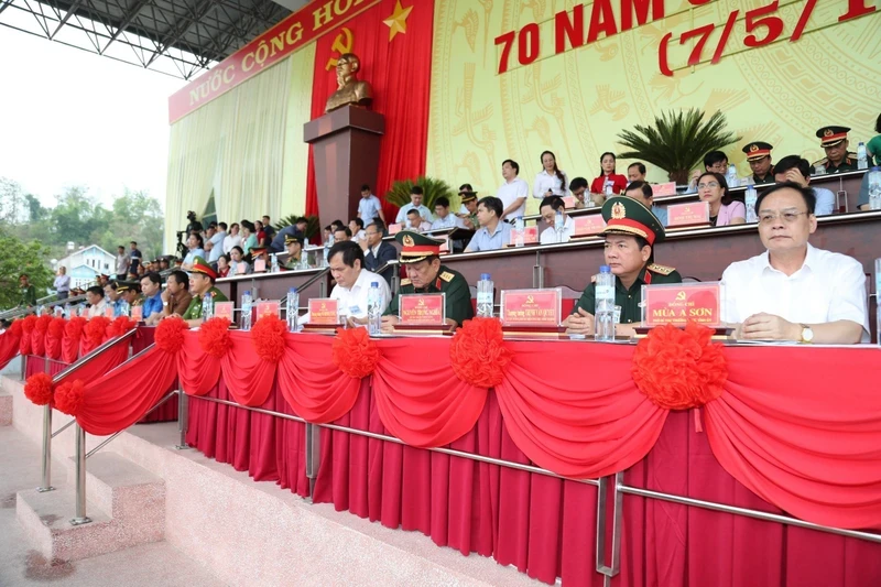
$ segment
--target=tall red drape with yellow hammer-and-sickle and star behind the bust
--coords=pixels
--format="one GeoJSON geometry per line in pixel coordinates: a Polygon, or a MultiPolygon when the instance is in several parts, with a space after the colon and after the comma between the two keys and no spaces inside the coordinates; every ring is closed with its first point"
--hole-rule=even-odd
{"type": "MultiPolygon", "coordinates": [[[[385,117],[377,185],[371,186],[380,198],[394,181],[425,173],[433,26],[434,0],[378,0],[317,41],[313,119],[324,115],[327,98],[337,88],[334,66],[341,53],[358,55],[358,78],[373,86],[371,109],[385,117]]],[[[388,221],[394,221],[394,206],[383,200],[383,211],[388,221]]],[[[318,214],[312,150],[306,214],[318,214]]]]}

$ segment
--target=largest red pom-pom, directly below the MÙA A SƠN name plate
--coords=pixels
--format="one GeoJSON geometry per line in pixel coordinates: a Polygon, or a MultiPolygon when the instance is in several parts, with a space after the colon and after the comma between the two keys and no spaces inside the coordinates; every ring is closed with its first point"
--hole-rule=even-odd
{"type": "Polygon", "coordinates": [[[637,387],[659,407],[700,407],[722,393],[728,363],[713,330],[688,323],[652,328],[637,345],[631,374],[637,387]]]}

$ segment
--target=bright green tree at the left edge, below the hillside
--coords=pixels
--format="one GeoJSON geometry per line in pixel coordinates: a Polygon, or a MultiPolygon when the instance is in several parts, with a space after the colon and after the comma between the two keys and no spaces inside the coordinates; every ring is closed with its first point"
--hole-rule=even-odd
{"type": "Polygon", "coordinates": [[[52,285],[53,273],[47,263],[48,248],[39,240],[25,241],[0,227],[0,308],[8,309],[19,303],[19,275],[26,273],[36,289],[36,297],[44,297],[52,285]]]}

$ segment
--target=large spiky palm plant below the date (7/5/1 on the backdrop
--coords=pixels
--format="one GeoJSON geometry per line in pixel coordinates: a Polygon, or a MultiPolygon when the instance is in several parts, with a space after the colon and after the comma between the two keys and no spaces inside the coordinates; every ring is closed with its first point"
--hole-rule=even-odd
{"type": "Polygon", "coordinates": [[[621,159],[639,159],[667,172],[678,185],[688,183],[688,172],[710,151],[740,140],[726,130],[725,115],[717,111],[704,122],[705,112],[697,108],[678,112],[662,112],[654,124],[637,124],[633,131],[622,131],[619,142],[630,149],[621,159]]]}

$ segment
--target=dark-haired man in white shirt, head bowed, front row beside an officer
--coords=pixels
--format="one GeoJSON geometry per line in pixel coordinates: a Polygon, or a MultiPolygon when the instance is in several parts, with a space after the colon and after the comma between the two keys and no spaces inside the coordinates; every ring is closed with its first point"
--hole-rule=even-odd
{"type": "MultiPolygon", "coordinates": [[[[388,282],[371,271],[363,269],[365,253],[350,240],[337,242],[327,253],[330,275],[337,284],[330,297],[339,301],[339,313],[347,317],[350,327],[367,325],[367,302],[373,283],[379,287],[380,315],[392,300],[388,282]]],[[[301,319],[308,323],[308,314],[301,319]]]]}

